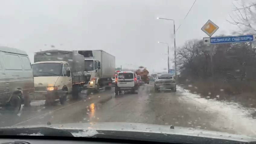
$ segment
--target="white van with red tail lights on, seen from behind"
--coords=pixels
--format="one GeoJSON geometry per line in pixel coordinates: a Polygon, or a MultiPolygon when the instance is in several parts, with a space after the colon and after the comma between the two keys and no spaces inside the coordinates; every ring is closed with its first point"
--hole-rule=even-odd
{"type": "Polygon", "coordinates": [[[131,90],[131,92],[134,94],[139,88],[136,73],[133,71],[121,71],[117,73],[116,80],[115,95],[119,95],[121,90],[131,90]]]}

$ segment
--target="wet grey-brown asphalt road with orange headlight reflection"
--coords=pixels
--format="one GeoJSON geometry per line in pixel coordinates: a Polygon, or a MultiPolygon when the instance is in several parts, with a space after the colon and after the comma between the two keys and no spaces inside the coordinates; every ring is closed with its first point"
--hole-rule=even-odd
{"type": "Polygon", "coordinates": [[[125,93],[114,97],[114,88],[87,96],[77,101],[67,101],[62,106],[56,102],[45,106],[34,101],[31,107],[23,107],[18,116],[1,115],[0,127],[84,122],[134,122],[158,125],[174,125],[235,133],[214,126],[215,113],[199,111],[198,107],[182,101],[177,92],[153,91],[151,84],[139,88],[138,94],[125,93]]]}

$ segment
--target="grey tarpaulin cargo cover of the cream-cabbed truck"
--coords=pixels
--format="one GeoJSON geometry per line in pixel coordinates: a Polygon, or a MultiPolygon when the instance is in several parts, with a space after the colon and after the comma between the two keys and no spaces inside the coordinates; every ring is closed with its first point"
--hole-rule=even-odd
{"type": "Polygon", "coordinates": [[[85,81],[85,61],[84,56],[73,51],[64,50],[46,50],[36,52],[34,62],[38,61],[67,61],[72,72],[73,83],[81,83],[85,81]]]}

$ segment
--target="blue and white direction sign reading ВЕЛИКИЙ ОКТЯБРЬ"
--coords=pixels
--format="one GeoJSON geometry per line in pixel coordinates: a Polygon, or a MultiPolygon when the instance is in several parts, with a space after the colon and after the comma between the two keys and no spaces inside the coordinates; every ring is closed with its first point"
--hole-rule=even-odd
{"type": "Polygon", "coordinates": [[[225,44],[256,41],[256,35],[238,35],[203,38],[203,44],[225,44]]]}

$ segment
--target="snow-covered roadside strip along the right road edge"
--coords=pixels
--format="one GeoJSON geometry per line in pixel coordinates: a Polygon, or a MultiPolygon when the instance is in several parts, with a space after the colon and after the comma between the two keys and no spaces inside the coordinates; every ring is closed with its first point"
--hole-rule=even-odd
{"type": "Polygon", "coordinates": [[[245,108],[237,103],[200,98],[200,95],[192,94],[179,86],[177,86],[177,92],[182,95],[179,97],[181,101],[193,104],[199,107],[199,110],[217,113],[218,118],[213,123],[213,127],[231,129],[237,134],[256,137],[256,119],[252,119],[251,116],[254,109],[245,108]]]}

